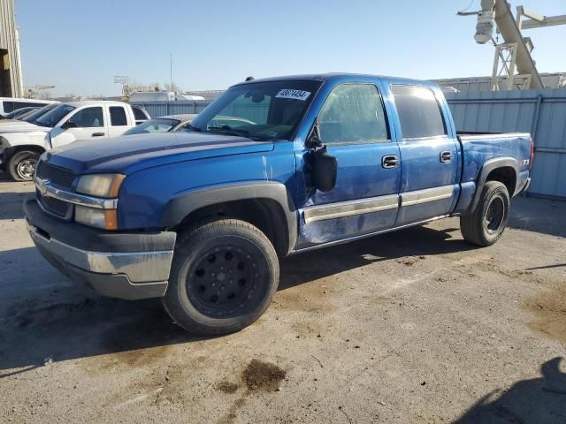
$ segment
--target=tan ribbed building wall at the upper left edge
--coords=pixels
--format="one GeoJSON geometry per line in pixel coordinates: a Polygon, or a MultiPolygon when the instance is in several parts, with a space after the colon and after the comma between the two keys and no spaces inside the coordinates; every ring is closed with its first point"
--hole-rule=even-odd
{"type": "Polygon", "coordinates": [[[11,91],[11,93],[0,91],[0,96],[21,97],[24,90],[19,60],[18,28],[14,18],[14,0],[0,0],[0,49],[7,50],[7,60],[0,57],[0,72],[9,72],[11,91]],[[6,70],[6,65],[9,66],[9,70],[6,70]]]}

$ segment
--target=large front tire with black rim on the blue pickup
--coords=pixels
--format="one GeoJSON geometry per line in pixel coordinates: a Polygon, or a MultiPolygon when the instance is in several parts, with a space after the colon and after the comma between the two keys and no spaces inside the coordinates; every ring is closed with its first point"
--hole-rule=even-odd
{"type": "Polygon", "coordinates": [[[190,333],[233,333],[264,314],[278,284],[278,257],[264,233],[220,219],[180,234],[162,301],[190,333]]]}

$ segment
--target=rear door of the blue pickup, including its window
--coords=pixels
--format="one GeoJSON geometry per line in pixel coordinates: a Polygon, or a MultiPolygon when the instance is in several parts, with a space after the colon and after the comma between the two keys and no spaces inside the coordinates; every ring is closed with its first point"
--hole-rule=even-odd
{"type": "MultiPolygon", "coordinates": [[[[460,149],[431,88],[393,86],[399,117],[401,208],[395,226],[445,216],[459,194],[460,149]]],[[[446,113],[446,112],[445,112],[446,113]]]]}

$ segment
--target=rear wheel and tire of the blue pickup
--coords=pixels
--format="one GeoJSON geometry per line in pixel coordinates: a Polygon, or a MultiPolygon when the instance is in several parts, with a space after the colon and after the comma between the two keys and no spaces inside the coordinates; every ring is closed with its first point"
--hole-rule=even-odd
{"type": "Polygon", "coordinates": [[[505,231],[509,206],[507,187],[499,181],[487,181],[476,209],[460,217],[463,239],[477,246],[492,246],[505,231]]]}

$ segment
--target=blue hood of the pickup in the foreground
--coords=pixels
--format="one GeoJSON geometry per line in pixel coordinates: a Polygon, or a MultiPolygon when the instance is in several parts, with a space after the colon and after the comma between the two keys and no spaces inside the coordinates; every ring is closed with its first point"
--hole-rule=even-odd
{"type": "Polygon", "coordinates": [[[271,141],[211,133],[135,134],[108,140],[76,141],[53,148],[46,160],[77,174],[120,172],[131,174],[168,163],[223,155],[270,151],[271,141]]]}

